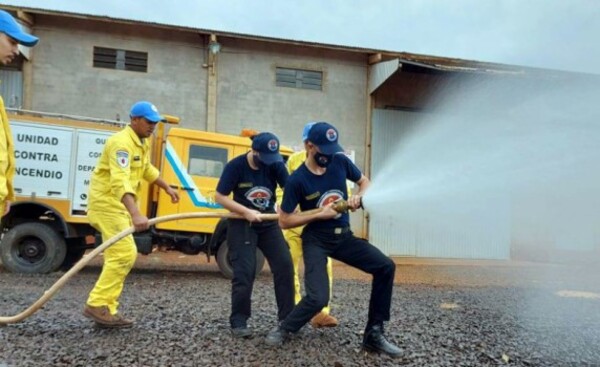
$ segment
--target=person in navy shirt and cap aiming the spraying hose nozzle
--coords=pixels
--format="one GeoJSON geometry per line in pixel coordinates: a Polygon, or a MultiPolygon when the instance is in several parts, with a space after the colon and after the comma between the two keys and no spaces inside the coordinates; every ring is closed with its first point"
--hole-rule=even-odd
{"type": "Polygon", "coordinates": [[[338,213],[333,203],[348,201],[354,211],[361,205],[361,196],[369,186],[369,179],[344,155],[338,144],[338,131],[326,122],[314,124],[305,143],[308,157],[288,179],[281,204],[279,224],[288,229],[306,225],[302,232],[304,251],[304,281],[306,295],[294,310],[269,332],[266,343],[281,345],[329,302],[327,257],[373,275],[369,315],[362,346],[397,357],[402,350],[384,336],[383,323],[390,319],[394,262],[364,239],[355,237],[350,230],[348,213],[338,213]],[[355,182],[359,191],[348,198],[346,179],[355,182]],[[295,212],[322,208],[315,214],[295,212]]]}

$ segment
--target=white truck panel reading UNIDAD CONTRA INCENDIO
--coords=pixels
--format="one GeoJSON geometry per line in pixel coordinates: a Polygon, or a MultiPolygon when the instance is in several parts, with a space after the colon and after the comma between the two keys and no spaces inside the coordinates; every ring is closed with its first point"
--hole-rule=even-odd
{"type": "Polygon", "coordinates": [[[11,122],[15,194],[68,198],[72,130],[11,122]]]}

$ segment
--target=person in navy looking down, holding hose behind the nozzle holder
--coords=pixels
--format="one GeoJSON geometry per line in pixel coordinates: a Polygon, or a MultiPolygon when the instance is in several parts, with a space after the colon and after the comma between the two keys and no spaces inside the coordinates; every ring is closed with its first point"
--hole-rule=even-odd
{"type": "Polygon", "coordinates": [[[253,332],[250,297],[256,269],[256,248],[260,248],[273,272],[278,319],[283,320],[294,307],[294,270],[290,250],[277,221],[262,221],[260,214],[275,213],[275,190],[288,179],[279,154],[279,139],[271,133],[252,138],[252,150],[232,159],[217,185],[215,200],[245,219],[229,219],[229,245],[233,280],[231,281],[231,332],[247,338],[253,332]],[[228,195],[233,192],[233,199],[228,195]]]}

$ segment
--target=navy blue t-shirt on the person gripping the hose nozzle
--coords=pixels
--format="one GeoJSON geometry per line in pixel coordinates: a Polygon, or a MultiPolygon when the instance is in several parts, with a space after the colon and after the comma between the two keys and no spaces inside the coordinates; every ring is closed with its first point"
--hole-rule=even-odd
{"type": "MultiPolygon", "coordinates": [[[[327,170],[315,175],[302,164],[292,173],[283,191],[281,210],[293,213],[300,204],[300,210],[310,210],[326,206],[339,199],[348,200],[346,179],[357,182],[362,173],[344,154],[334,154],[327,170]]],[[[334,228],[350,225],[350,215],[340,214],[330,220],[315,220],[306,228],[334,228]]]]}

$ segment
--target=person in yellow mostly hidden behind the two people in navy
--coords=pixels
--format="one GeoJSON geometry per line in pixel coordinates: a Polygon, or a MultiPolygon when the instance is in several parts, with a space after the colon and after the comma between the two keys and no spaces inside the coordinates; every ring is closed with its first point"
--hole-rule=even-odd
{"type": "MultiPolygon", "coordinates": [[[[309,122],[304,126],[304,130],[302,131],[302,141],[306,142],[308,137],[308,132],[314,122],[309,122]]],[[[302,150],[292,154],[287,161],[287,169],[290,175],[294,172],[298,167],[300,167],[304,161],[306,160],[306,151],[302,150]]],[[[277,197],[281,200],[283,195],[278,194],[277,197]]],[[[302,299],[302,295],[300,293],[300,279],[298,277],[298,266],[300,264],[300,259],[302,258],[302,227],[296,227],[291,229],[286,229],[283,231],[283,236],[288,243],[290,248],[290,253],[292,254],[292,263],[294,265],[294,288],[295,288],[295,302],[296,304],[300,302],[302,299]]],[[[327,258],[327,275],[329,276],[329,299],[331,299],[332,287],[333,287],[333,270],[331,259],[327,258]]],[[[322,328],[322,327],[335,327],[338,325],[338,320],[331,316],[329,312],[331,308],[329,305],[325,306],[321,312],[316,314],[310,324],[314,328],[322,328]]]]}

